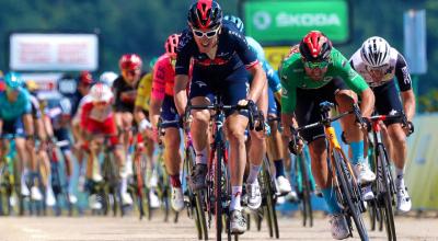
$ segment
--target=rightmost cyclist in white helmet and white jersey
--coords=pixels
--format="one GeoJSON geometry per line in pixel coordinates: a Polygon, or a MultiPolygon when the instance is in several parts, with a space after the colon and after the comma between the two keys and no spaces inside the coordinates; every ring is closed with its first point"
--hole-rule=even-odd
{"type": "Polygon", "coordinates": [[[382,115],[396,113],[406,114],[408,126],[402,127],[401,120],[384,120],[383,140],[395,164],[395,186],[400,211],[411,210],[411,198],[403,180],[406,160],[406,135],[413,128],[412,119],[415,114],[415,95],[407,64],[403,56],[392,48],[385,39],[373,36],[366,39],[350,58],[351,67],[359,72],[376,95],[376,111],[382,115]],[[397,79],[399,91],[394,77],[397,79]]]}

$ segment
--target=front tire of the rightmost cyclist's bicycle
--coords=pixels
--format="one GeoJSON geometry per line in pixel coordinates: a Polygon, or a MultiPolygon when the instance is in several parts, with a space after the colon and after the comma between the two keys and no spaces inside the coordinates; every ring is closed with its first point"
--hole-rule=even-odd
{"type": "Polygon", "coordinates": [[[394,223],[394,214],[392,209],[392,192],[391,192],[391,186],[390,186],[390,180],[389,175],[391,175],[389,171],[389,161],[388,161],[388,153],[383,147],[383,145],[378,146],[378,157],[380,159],[380,167],[382,168],[380,171],[382,173],[378,174],[379,182],[381,182],[381,185],[384,187],[384,192],[382,193],[382,199],[383,199],[383,208],[382,208],[382,219],[384,220],[385,225],[385,230],[388,234],[388,240],[395,241],[396,240],[396,233],[395,233],[395,223],[394,223]],[[381,180],[383,177],[383,180],[381,180]]]}

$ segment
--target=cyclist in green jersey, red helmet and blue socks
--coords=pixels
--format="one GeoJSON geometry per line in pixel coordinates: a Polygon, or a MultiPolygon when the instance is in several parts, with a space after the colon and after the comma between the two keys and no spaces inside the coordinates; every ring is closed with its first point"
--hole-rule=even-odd
{"type": "MultiPolygon", "coordinates": [[[[337,104],[339,112],[351,110],[357,102],[356,92],[361,96],[364,116],[370,116],[374,96],[365,80],[351,69],[348,60],[335,48],[330,39],[319,31],[309,32],[300,42],[299,50],[293,50],[280,66],[283,85],[281,123],[285,127],[299,126],[320,120],[319,104],[330,101],[337,104]],[[351,90],[348,90],[350,88],[351,90]]],[[[359,183],[369,183],[376,179],[364,161],[364,140],[360,126],[355,116],[342,118],[342,126],[349,137],[353,152],[351,162],[359,183]]],[[[284,134],[290,137],[290,129],[284,134]]],[[[334,195],[328,179],[327,153],[322,127],[302,131],[301,137],[308,142],[311,156],[312,174],[322,188],[323,197],[331,214],[332,237],[345,239],[348,227],[345,216],[334,195]]],[[[302,145],[302,144],[301,144],[302,145]]]]}

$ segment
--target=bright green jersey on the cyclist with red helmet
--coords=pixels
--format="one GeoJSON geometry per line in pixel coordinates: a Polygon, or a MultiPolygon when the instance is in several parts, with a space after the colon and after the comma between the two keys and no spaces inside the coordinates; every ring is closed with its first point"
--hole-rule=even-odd
{"type": "Polygon", "coordinates": [[[341,78],[349,89],[360,94],[368,89],[367,82],[358,74],[337,49],[332,48],[327,72],[322,80],[315,81],[306,74],[300,53],[286,58],[279,68],[281,78],[281,113],[293,113],[297,105],[297,88],[302,90],[320,89],[334,78],[341,78]]]}

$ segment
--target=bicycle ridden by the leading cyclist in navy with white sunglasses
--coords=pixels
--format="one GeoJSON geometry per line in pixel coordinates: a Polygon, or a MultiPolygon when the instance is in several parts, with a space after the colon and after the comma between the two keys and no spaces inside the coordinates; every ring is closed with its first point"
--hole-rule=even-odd
{"type": "MultiPolygon", "coordinates": [[[[221,97],[217,97],[211,105],[187,105],[185,110],[185,119],[188,119],[192,110],[209,110],[212,114],[212,144],[210,158],[207,162],[206,176],[206,194],[204,202],[206,204],[208,227],[211,227],[212,215],[215,215],[216,239],[221,240],[222,231],[227,232],[228,240],[234,236],[234,240],[239,239],[239,234],[232,234],[230,229],[230,210],[229,204],[231,200],[231,184],[228,170],[228,151],[227,142],[223,133],[223,124],[226,119],[226,111],[247,110],[237,105],[224,105],[221,97]],[[223,228],[224,222],[224,228],[223,228]]],[[[250,129],[254,129],[254,117],[252,110],[249,110],[250,129]]]]}

